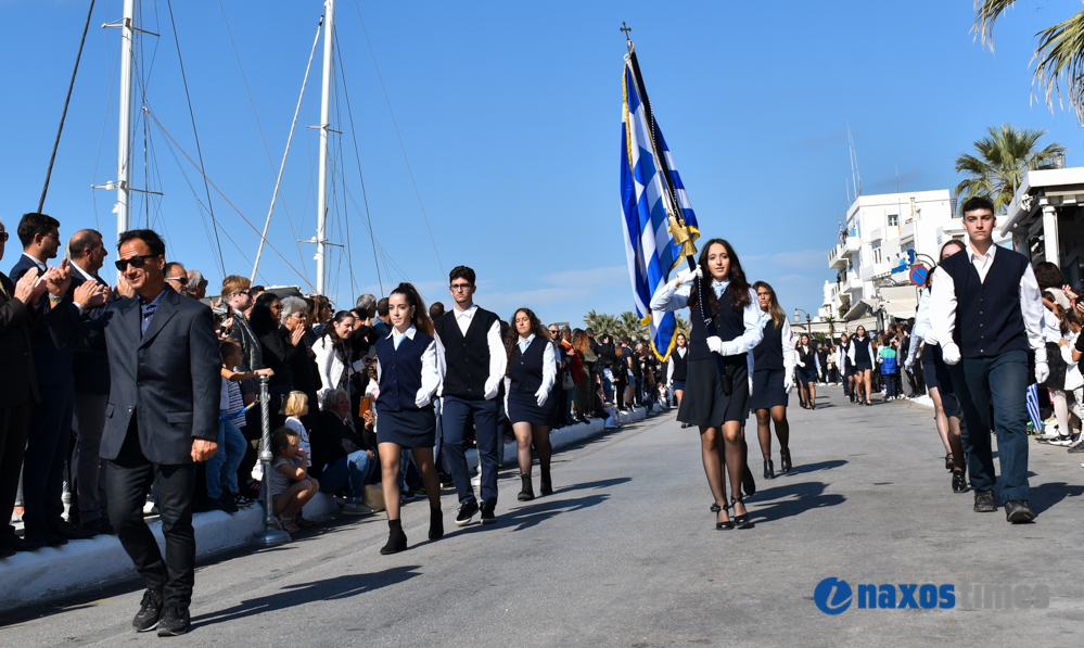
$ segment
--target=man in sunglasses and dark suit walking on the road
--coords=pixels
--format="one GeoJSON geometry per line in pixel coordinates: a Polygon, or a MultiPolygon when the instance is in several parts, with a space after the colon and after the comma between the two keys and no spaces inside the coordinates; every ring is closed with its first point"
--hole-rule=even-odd
{"type": "MultiPolygon", "coordinates": [[[[157,233],[124,232],[117,251],[117,269],[137,296],[110,302],[79,327],[82,345],[109,351],[101,455],[110,461],[110,521],[146,583],[132,625],[179,635],[189,627],[195,580],[195,461],[218,449],[218,339],[211,308],[166,285],[166,246],[157,233]],[[143,521],[152,482],[166,537],[164,560],[143,521]]],[[[53,294],[66,289],[49,285],[53,294]]]]}

